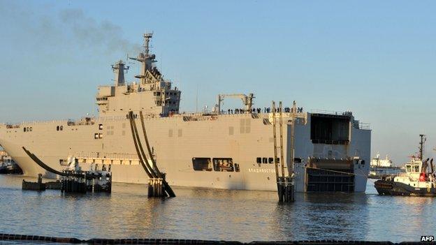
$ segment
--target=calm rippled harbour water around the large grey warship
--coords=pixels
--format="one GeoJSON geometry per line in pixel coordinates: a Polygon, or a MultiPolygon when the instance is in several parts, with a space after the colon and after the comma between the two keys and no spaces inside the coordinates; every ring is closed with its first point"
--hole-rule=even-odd
{"type": "MultiPolygon", "coordinates": [[[[147,198],[140,184],[111,194],[22,191],[21,176],[0,175],[0,232],[90,238],[225,239],[240,242],[354,239],[418,242],[436,235],[436,199],[366,193],[296,194],[277,203],[266,191],[177,188],[177,198],[147,198]]],[[[30,179],[30,178],[26,178],[30,179]]]]}

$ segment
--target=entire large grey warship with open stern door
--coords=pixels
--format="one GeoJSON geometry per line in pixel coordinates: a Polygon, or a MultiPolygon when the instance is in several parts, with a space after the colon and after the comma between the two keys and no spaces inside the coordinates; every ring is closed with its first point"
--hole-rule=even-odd
{"type": "MultiPolygon", "coordinates": [[[[153,157],[170,185],[275,191],[270,109],[254,107],[253,94],[233,94],[218,96],[212,112],[181,113],[181,91],[154,66],[150,38],[145,34],[143,52],[130,58],[140,62],[136,82],[124,80],[129,67],[123,61],[112,66],[114,84],[99,87],[96,95],[99,117],[0,124],[0,144],[24,175],[49,174],[22,147],[56,170],[75,158],[84,169],[110,169],[112,181],[147,183],[127,117],[141,111],[153,157]],[[226,96],[242,98],[244,109],[221,107],[226,96]]],[[[310,113],[293,105],[283,117],[284,159],[278,161],[295,167],[297,191],[365,191],[369,128],[351,112],[310,113]]]]}

